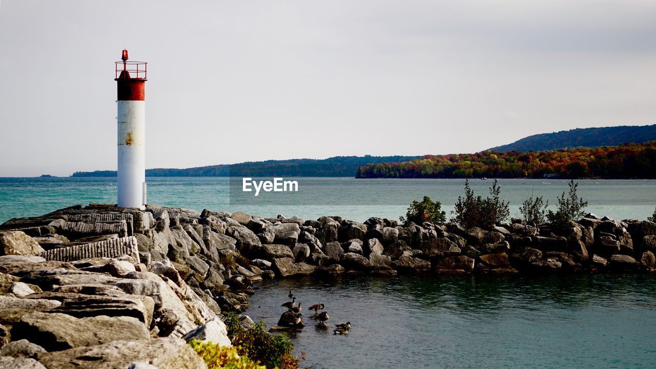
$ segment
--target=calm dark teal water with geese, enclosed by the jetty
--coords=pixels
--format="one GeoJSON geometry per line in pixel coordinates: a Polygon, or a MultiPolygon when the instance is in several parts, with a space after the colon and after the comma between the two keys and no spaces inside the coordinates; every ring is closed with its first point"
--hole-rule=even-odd
{"type": "MultiPolygon", "coordinates": [[[[269,326],[293,290],[324,303],[328,323],[305,318],[289,337],[314,368],[653,368],[656,276],[362,276],[264,282],[247,313],[269,326]]],[[[304,310],[304,316],[312,313],[304,310]]]]}

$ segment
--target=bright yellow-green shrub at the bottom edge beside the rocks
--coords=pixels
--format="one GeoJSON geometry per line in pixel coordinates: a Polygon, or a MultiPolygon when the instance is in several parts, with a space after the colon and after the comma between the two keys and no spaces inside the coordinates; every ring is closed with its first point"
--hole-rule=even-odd
{"type": "Polygon", "coordinates": [[[207,369],[266,369],[259,362],[239,354],[239,347],[220,346],[215,343],[191,341],[189,345],[205,360],[207,369]]]}

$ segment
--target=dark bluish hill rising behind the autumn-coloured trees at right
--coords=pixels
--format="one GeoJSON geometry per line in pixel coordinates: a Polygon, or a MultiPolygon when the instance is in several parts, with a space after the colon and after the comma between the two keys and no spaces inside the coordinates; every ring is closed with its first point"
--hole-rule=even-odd
{"type": "Polygon", "coordinates": [[[617,146],[625,143],[642,144],[656,140],[654,125],[620,125],[617,127],[577,128],[569,131],[541,133],[519,141],[490,148],[493,151],[544,151],[561,148],[617,146]]]}

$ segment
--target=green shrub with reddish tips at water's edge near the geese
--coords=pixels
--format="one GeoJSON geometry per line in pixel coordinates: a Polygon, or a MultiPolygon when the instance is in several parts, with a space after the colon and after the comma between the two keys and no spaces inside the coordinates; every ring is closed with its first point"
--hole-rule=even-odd
{"type": "Polygon", "coordinates": [[[238,347],[239,355],[258,360],[267,368],[298,369],[298,362],[304,359],[293,355],[294,344],[284,334],[270,334],[264,330],[266,325],[258,322],[252,328],[243,328],[236,313],[228,313],[224,320],[228,337],[238,347]]]}

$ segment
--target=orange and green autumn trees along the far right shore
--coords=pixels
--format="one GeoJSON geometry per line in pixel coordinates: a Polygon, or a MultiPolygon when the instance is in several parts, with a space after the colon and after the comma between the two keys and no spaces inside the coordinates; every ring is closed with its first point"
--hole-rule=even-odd
{"type": "Polygon", "coordinates": [[[565,178],[656,179],[656,141],[544,152],[427,155],[400,163],[367,164],[358,178],[565,178]]]}

